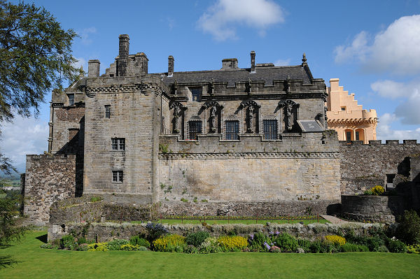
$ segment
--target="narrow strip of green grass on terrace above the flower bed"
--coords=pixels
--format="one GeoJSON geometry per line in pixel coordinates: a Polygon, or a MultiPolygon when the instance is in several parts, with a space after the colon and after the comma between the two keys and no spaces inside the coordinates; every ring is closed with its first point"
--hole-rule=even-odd
{"type": "MultiPolygon", "coordinates": [[[[204,222],[204,219],[201,220],[204,222]]],[[[133,223],[140,223],[140,221],[132,221],[133,223]]],[[[160,221],[158,221],[160,222],[160,221]]],[[[172,219],[162,219],[162,224],[201,224],[200,220],[172,220],[172,219]]],[[[286,224],[286,223],[298,223],[303,222],[303,224],[311,224],[316,223],[316,220],[258,220],[258,224],[267,224],[270,223],[278,223],[278,224],[286,224]]],[[[329,223],[327,220],[323,218],[319,218],[319,222],[321,224],[329,223]]],[[[206,220],[207,224],[228,224],[228,220],[206,220]]],[[[255,220],[229,220],[229,224],[255,224],[255,220]]]]}

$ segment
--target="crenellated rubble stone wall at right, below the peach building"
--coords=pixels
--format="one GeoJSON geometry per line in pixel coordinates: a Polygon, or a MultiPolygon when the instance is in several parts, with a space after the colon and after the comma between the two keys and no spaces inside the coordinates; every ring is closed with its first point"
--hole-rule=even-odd
{"type": "Polygon", "coordinates": [[[393,187],[409,181],[409,158],[420,154],[420,144],[414,141],[339,142],[341,157],[342,194],[363,194],[375,185],[386,186],[387,176],[395,175],[393,187]]]}

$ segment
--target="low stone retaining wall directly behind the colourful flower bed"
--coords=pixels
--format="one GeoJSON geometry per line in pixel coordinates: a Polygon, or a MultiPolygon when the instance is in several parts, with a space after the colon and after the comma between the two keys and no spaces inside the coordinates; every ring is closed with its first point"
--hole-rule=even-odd
{"type": "MultiPolygon", "coordinates": [[[[369,234],[369,229],[380,228],[381,224],[363,224],[363,223],[347,223],[347,224],[214,224],[211,226],[203,226],[202,224],[163,224],[170,233],[186,236],[196,231],[208,231],[211,236],[222,236],[232,231],[239,236],[248,236],[256,232],[262,232],[266,235],[270,231],[286,232],[293,236],[314,240],[328,234],[344,234],[347,231],[354,231],[356,235],[369,234]]],[[[61,238],[66,234],[76,234],[76,236],[85,235],[88,239],[96,239],[98,241],[111,241],[113,239],[130,239],[131,236],[137,234],[146,234],[146,223],[66,223],[66,224],[50,224],[48,229],[48,241],[61,238]]]]}

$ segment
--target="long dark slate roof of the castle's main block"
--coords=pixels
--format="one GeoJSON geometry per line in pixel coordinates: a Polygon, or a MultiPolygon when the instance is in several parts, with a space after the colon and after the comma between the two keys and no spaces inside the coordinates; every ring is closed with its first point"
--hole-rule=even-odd
{"type": "Polygon", "coordinates": [[[175,79],[178,84],[181,83],[209,83],[213,78],[214,83],[228,82],[228,87],[235,86],[238,82],[247,82],[248,78],[255,81],[265,81],[265,85],[272,85],[273,80],[303,80],[304,84],[311,83],[311,73],[308,66],[269,66],[256,67],[255,73],[250,69],[229,69],[215,71],[188,71],[174,72],[172,77],[167,73],[157,74],[163,76],[163,82],[166,85],[172,85],[175,79]]]}

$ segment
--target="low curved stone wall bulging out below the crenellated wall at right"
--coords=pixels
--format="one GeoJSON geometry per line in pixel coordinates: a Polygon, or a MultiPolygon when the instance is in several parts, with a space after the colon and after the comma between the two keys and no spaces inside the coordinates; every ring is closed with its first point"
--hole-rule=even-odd
{"type": "Polygon", "coordinates": [[[395,216],[402,213],[402,196],[342,195],[342,216],[350,220],[395,222],[395,216]]]}

